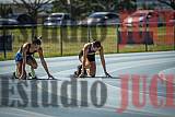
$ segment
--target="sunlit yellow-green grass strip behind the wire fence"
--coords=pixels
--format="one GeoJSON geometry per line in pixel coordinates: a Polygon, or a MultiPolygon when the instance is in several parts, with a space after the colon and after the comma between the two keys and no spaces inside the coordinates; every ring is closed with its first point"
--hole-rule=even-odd
{"type": "MultiPolygon", "coordinates": [[[[135,28],[131,28],[131,31],[135,28]]],[[[142,30],[142,28],[141,28],[142,30]]],[[[122,31],[118,28],[118,31],[122,31]]],[[[153,45],[148,45],[149,51],[173,50],[174,49],[174,28],[173,27],[150,27],[153,32],[153,45]]],[[[9,28],[7,34],[13,35],[12,51],[7,52],[7,59],[13,59],[15,52],[25,42],[32,40],[32,33],[43,36],[43,48],[45,57],[71,56],[78,55],[80,49],[89,40],[97,39],[102,42],[106,54],[115,54],[119,48],[119,52],[137,52],[145,51],[145,45],[120,45],[117,48],[117,28],[116,26],[101,26],[101,27],[44,27],[38,26],[34,31],[31,27],[9,28]],[[89,32],[90,31],[90,32],[89,32]],[[91,38],[89,38],[91,35],[91,38]],[[62,49],[61,49],[62,48],[62,49]]],[[[3,34],[3,30],[0,30],[3,34]]],[[[35,55],[37,57],[37,55],[35,55]]],[[[0,60],[5,60],[3,52],[0,52],[0,60]]]]}

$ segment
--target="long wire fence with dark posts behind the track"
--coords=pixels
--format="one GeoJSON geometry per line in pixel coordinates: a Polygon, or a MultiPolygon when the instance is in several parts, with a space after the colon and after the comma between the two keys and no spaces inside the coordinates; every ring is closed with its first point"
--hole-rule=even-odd
{"type": "MultiPolygon", "coordinates": [[[[13,59],[15,52],[34,35],[43,36],[45,57],[78,55],[83,45],[93,39],[102,42],[105,54],[175,50],[175,26],[167,23],[162,26],[1,26],[0,60],[13,59]],[[9,43],[7,36],[12,36],[9,43]],[[3,44],[5,43],[5,44],[3,44]],[[12,49],[8,46],[12,44],[12,49]]],[[[37,55],[35,55],[37,57],[37,55]]]]}

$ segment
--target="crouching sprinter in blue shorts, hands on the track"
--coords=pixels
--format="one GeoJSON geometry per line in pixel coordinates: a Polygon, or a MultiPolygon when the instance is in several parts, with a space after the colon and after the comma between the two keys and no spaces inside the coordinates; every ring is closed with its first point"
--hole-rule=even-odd
{"type": "Polygon", "coordinates": [[[45,71],[47,72],[48,79],[54,77],[49,73],[48,68],[47,68],[47,63],[44,59],[44,55],[43,55],[43,48],[40,47],[42,45],[42,37],[34,37],[34,40],[32,40],[32,43],[25,43],[21,46],[21,48],[19,49],[19,51],[15,55],[15,62],[16,62],[16,72],[14,73],[15,78],[19,79],[25,79],[26,78],[26,71],[25,71],[25,65],[30,65],[31,66],[31,73],[30,75],[33,79],[36,79],[35,75],[35,71],[34,69],[37,69],[37,62],[35,60],[35,58],[33,57],[33,55],[35,52],[38,52],[42,65],[45,69],[45,71]]]}

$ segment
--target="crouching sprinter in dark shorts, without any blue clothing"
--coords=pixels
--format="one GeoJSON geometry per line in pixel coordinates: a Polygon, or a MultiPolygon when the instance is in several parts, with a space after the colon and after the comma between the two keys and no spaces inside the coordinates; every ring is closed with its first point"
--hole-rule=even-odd
{"type": "Polygon", "coordinates": [[[88,43],[84,45],[83,49],[79,54],[79,60],[82,66],[79,66],[79,70],[75,72],[75,75],[83,78],[86,75],[94,78],[96,73],[96,63],[95,63],[95,54],[100,51],[102,66],[106,77],[110,77],[106,71],[106,63],[104,58],[103,46],[101,42],[95,40],[93,43],[88,43]]]}

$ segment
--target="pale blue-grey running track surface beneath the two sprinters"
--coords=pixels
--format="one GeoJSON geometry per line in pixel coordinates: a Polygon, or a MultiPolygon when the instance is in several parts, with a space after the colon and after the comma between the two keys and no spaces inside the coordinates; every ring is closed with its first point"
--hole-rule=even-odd
{"type": "MultiPolygon", "coordinates": [[[[13,107],[0,107],[0,116],[1,117],[174,117],[175,115],[175,107],[164,107],[166,103],[166,79],[164,79],[165,74],[173,74],[175,75],[175,51],[161,51],[161,52],[144,52],[144,54],[118,54],[118,55],[106,55],[106,66],[107,71],[114,77],[113,79],[104,78],[103,68],[101,66],[100,57],[96,57],[96,65],[97,78],[86,78],[86,79],[78,79],[73,81],[77,83],[77,92],[71,93],[71,87],[68,86],[68,97],[70,94],[77,94],[78,105],[80,107],[65,107],[61,102],[61,89],[62,84],[66,81],[70,81],[70,75],[74,72],[77,65],[79,65],[78,57],[59,57],[59,58],[47,58],[46,61],[48,62],[48,67],[52,75],[57,80],[46,80],[47,75],[38,61],[38,69],[36,73],[40,80],[27,80],[27,81],[19,81],[19,80],[11,80],[12,72],[15,69],[15,63],[13,60],[10,61],[0,61],[0,105],[4,104],[4,94],[9,93],[9,104],[12,101],[20,101],[22,102],[21,96],[25,96],[20,94],[20,90],[23,89],[25,94],[27,95],[27,105],[25,107],[16,106],[18,103],[13,105],[13,107]],[[121,81],[124,78],[121,74],[129,75],[128,82],[128,106],[127,109],[119,114],[117,110],[121,107],[121,81]],[[132,83],[131,74],[137,75],[147,75],[147,90],[145,92],[142,91],[142,80],[140,79],[140,102],[142,102],[142,95],[145,94],[145,104],[138,108],[133,105],[133,95],[136,91],[132,91],[132,86],[137,85],[137,82],[132,83]],[[163,100],[163,105],[159,108],[155,108],[152,105],[150,100],[150,85],[152,81],[152,77],[158,74],[160,78],[164,79],[163,82],[158,82],[158,101],[163,100]],[[9,82],[9,85],[5,83],[9,82]],[[85,82],[88,85],[86,92],[81,92],[82,86],[81,84],[85,82]],[[97,91],[96,98],[100,103],[100,86],[97,89],[93,89],[93,84],[95,82],[101,82],[105,84],[107,89],[107,98],[106,103],[102,107],[96,107],[93,104],[92,98],[95,96],[94,91],[97,91]],[[3,83],[3,84],[2,84],[3,83]],[[18,87],[18,84],[22,84],[23,87],[18,87]],[[52,86],[54,84],[54,86],[52,86]],[[2,87],[7,86],[7,87],[2,87]],[[37,86],[37,91],[33,90],[34,86],[37,86]],[[13,91],[8,90],[13,89],[13,91]],[[52,89],[54,87],[54,89],[52,89]],[[44,92],[45,91],[45,92],[44,92]],[[37,94],[32,98],[31,94],[37,94]],[[92,93],[92,94],[91,94],[92,93]],[[48,95],[47,95],[48,94],[48,95]],[[49,98],[50,95],[54,94],[57,100],[55,103],[51,103],[49,107],[44,107],[44,103],[47,102],[46,98],[49,98]],[[88,107],[81,106],[81,96],[88,95],[88,107]],[[43,98],[44,96],[44,98],[43,98]],[[47,97],[48,96],[48,97],[47,97]],[[3,97],[3,98],[2,98],[3,97]],[[33,103],[32,103],[33,102],[33,103]],[[32,104],[37,104],[38,107],[32,106],[32,104]],[[55,106],[55,107],[52,107],[55,106]]],[[[175,78],[174,78],[175,79],[175,78]]],[[[168,82],[168,81],[167,81],[168,82]]],[[[175,81],[174,81],[175,82],[175,81]]],[[[173,82],[173,83],[174,83],[173,82]]],[[[125,82],[127,85],[127,82],[125,82]]],[[[174,98],[175,98],[175,85],[174,87],[174,98]]],[[[63,91],[63,90],[62,90],[63,91]]],[[[103,91],[102,91],[103,92],[103,91]]],[[[138,98],[139,100],[139,98],[138,98]]],[[[135,100],[136,101],[136,100],[135,100]]],[[[159,102],[160,103],[160,102],[159,102]]],[[[175,105],[175,101],[174,101],[175,105]]]]}

